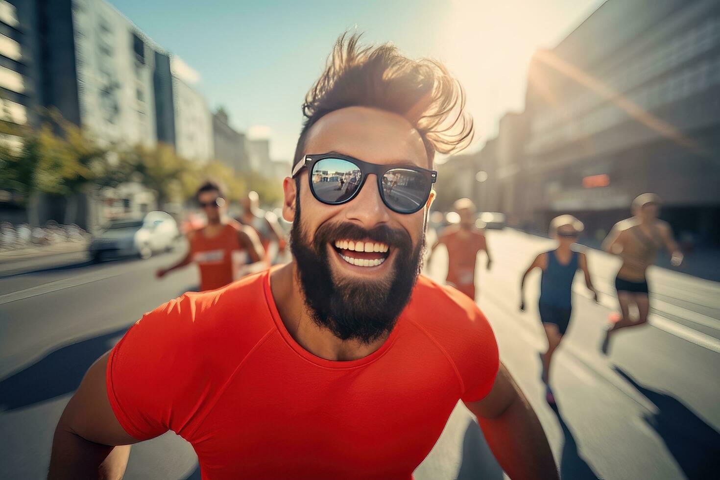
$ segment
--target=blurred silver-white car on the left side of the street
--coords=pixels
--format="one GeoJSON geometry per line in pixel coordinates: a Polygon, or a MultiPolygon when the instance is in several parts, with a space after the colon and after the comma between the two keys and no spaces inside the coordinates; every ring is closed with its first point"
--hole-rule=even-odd
{"type": "Polygon", "coordinates": [[[153,253],[172,250],[179,236],[170,214],[150,212],[143,219],[113,220],[93,236],[89,252],[94,261],[134,255],[150,258],[153,253]]]}

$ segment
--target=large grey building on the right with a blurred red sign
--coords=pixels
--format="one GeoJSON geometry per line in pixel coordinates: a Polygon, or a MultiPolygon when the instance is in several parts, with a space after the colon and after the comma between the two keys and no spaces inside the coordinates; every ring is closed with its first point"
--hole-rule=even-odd
{"type": "Polygon", "coordinates": [[[652,191],[676,235],[720,240],[717,1],[607,1],[534,55],[525,114],[508,213],[541,225],[572,213],[602,237],[652,191]]]}

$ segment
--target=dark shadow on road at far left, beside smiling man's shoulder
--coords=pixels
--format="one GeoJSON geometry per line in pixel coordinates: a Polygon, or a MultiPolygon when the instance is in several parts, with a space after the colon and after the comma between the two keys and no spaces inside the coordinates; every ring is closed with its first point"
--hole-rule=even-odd
{"type": "Polygon", "coordinates": [[[59,348],[0,381],[0,411],[9,412],[75,391],[85,372],[128,327],[59,348]]]}

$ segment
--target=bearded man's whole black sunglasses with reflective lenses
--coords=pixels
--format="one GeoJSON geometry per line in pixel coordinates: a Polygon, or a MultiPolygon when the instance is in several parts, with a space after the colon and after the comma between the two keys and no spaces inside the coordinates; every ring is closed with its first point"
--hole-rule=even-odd
{"type": "Polygon", "coordinates": [[[370,173],[377,176],[377,189],[387,208],[401,214],[415,213],[430,198],[436,171],[402,164],[377,165],[339,153],[305,155],[292,168],[297,176],[307,167],[310,191],[318,201],[341,205],[358,194],[370,173]]]}

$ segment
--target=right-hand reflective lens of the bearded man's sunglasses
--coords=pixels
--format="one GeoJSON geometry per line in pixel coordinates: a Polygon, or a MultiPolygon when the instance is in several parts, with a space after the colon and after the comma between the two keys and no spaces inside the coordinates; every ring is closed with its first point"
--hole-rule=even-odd
{"type": "Polygon", "coordinates": [[[400,213],[413,213],[428,201],[432,181],[427,173],[393,168],[382,176],[382,194],[388,207],[400,213]]]}

